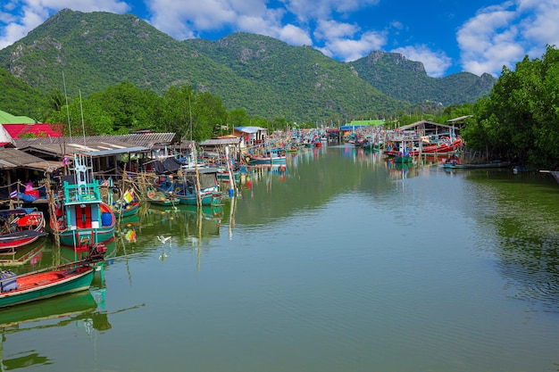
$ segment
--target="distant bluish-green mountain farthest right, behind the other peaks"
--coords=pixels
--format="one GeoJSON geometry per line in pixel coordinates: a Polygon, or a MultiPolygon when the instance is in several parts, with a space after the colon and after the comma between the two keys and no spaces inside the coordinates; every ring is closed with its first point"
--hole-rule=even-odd
{"type": "Polygon", "coordinates": [[[459,72],[445,78],[431,78],[421,62],[409,61],[402,54],[371,52],[355,62],[349,62],[359,77],[385,95],[402,101],[424,101],[450,104],[475,102],[488,95],[496,82],[489,74],[481,77],[459,72]]]}

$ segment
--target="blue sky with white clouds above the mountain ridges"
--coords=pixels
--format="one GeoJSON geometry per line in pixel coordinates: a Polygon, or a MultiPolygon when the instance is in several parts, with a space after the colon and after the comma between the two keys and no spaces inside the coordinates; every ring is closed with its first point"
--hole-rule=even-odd
{"type": "Polygon", "coordinates": [[[338,61],[371,51],[423,62],[434,78],[469,71],[498,76],[525,55],[559,46],[558,0],[4,0],[0,49],[63,8],[133,13],[178,40],[232,32],[313,45],[338,61]]]}

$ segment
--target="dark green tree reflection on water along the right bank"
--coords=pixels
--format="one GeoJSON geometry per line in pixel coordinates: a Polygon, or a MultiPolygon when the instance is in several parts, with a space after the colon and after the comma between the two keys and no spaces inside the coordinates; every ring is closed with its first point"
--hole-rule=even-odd
{"type": "Polygon", "coordinates": [[[511,169],[471,170],[471,210],[485,228],[480,247],[494,252],[512,298],[559,312],[559,188],[538,174],[513,178],[511,169]],[[508,171],[507,171],[508,170],[508,171]],[[534,189],[532,185],[540,185],[534,189]],[[489,229],[491,227],[492,229],[489,229]],[[488,246],[488,241],[497,244],[488,246]]]}

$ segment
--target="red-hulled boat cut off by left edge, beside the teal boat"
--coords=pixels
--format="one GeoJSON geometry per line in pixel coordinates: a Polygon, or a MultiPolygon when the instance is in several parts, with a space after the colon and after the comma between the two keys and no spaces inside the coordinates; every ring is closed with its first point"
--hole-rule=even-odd
{"type": "Polygon", "coordinates": [[[15,252],[46,236],[45,216],[34,208],[0,211],[0,252],[15,252]]]}

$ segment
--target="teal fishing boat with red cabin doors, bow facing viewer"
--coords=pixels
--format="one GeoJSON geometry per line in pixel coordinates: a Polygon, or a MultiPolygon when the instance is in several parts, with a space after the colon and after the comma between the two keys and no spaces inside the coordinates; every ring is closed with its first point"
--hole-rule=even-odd
{"type": "Polygon", "coordinates": [[[73,174],[63,178],[63,197],[56,206],[50,226],[63,245],[103,243],[113,238],[116,218],[101,199],[99,182],[93,178],[91,157],[74,155],[73,174]]]}

